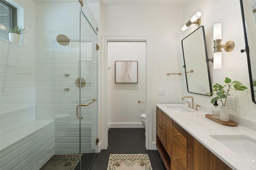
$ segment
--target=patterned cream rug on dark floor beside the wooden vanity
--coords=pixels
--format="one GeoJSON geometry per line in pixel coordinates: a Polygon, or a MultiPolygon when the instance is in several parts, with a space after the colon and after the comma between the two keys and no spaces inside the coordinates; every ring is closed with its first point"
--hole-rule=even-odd
{"type": "Polygon", "coordinates": [[[110,154],[108,170],[152,170],[148,154],[110,154]]]}

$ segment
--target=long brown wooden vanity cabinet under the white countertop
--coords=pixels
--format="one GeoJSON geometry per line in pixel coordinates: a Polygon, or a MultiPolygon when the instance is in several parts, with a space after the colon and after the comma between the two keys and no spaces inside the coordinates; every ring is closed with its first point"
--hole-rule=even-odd
{"type": "Polygon", "coordinates": [[[232,170],[158,107],[156,147],[166,170],[232,170]]]}

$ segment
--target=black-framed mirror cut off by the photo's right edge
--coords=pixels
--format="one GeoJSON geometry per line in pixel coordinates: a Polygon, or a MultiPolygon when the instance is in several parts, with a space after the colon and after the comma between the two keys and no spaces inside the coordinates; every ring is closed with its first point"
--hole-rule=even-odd
{"type": "MultiPolygon", "coordinates": [[[[240,0],[252,101],[256,104],[256,0],[240,0]]],[[[241,52],[244,52],[242,49],[241,52]]]]}

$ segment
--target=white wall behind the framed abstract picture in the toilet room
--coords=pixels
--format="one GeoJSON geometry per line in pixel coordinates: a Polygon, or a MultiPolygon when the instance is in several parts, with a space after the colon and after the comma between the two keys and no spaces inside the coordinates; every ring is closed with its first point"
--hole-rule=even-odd
{"type": "Polygon", "coordinates": [[[146,42],[108,43],[109,128],[142,127],[146,100],[146,42]],[[115,83],[115,61],[138,61],[138,83],[115,83]]]}

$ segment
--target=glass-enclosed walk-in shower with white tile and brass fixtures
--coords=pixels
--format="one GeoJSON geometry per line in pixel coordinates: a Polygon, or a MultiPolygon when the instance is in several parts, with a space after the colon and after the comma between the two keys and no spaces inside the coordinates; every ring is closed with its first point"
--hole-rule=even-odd
{"type": "Polygon", "coordinates": [[[76,169],[89,169],[98,151],[97,22],[79,0],[13,1],[26,33],[20,44],[0,39],[0,170],[40,169],[54,154],[81,154],[76,169]]]}

